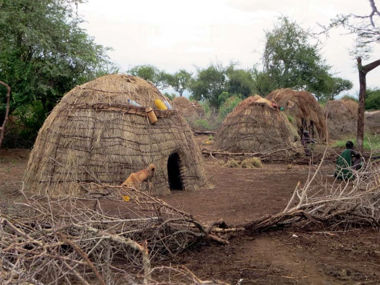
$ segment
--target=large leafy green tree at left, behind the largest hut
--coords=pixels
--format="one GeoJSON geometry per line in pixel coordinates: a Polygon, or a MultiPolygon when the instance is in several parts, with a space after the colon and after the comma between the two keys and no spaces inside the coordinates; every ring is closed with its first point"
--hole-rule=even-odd
{"type": "MultiPolygon", "coordinates": [[[[9,114],[16,112],[24,125],[32,122],[31,136],[67,91],[111,64],[109,48],[80,28],[73,4],[82,2],[0,1],[0,74],[12,88],[9,114]]],[[[4,106],[1,97],[0,121],[4,106]]]]}

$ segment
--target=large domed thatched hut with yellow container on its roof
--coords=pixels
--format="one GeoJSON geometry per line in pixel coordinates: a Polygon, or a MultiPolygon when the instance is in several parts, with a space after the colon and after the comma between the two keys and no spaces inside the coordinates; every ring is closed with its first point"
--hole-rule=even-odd
{"type": "Polygon", "coordinates": [[[80,182],[120,185],[150,163],[157,166],[157,194],[205,186],[202,154],[187,122],[175,109],[155,109],[155,99],[165,100],[151,83],[126,75],[100,77],[68,92],[35,141],[25,179],[29,189],[78,194],[80,182]],[[156,124],[146,116],[148,107],[156,124]]]}

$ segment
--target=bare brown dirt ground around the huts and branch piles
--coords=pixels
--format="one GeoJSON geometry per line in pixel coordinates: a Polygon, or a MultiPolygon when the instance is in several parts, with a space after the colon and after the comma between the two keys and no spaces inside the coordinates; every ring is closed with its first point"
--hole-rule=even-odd
{"type": "MultiPolygon", "coordinates": [[[[29,150],[0,150],[1,207],[18,199],[28,154],[29,150]]],[[[323,167],[318,183],[331,181],[333,168],[323,167]]],[[[297,182],[304,183],[309,175],[305,165],[231,169],[212,158],[205,158],[205,170],[210,189],[172,191],[161,197],[204,223],[224,219],[236,224],[278,213],[297,182]]],[[[236,236],[228,246],[203,244],[170,262],[188,266],[201,278],[230,284],[380,284],[380,235],[371,228],[343,233],[291,227],[236,236]]]]}

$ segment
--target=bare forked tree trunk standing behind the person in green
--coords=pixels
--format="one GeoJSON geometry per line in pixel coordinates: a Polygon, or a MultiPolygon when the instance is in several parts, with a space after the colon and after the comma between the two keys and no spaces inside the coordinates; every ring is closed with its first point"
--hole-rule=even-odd
{"type": "Polygon", "coordinates": [[[357,69],[359,72],[359,108],[357,110],[357,133],[356,133],[356,144],[357,149],[363,152],[363,141],[364,141],[364,105],[366,103],[366,92],[367,92],[367,81],[366,75],[372,69],[380,65],[380,60],[376,60],[367,65],[361,65],[361,58],[357,58],[357,69]]]}

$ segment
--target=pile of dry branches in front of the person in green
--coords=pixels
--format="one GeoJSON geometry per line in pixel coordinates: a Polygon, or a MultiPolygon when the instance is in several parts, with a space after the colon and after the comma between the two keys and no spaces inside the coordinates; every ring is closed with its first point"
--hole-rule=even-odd
{"type": "Polygon", "coordinates": [[[262,231],[307,220],[323,227],[380,227],[379,162],[368,159],[359,171],[351,169],[353,180],[331,183],[320,173],[326,153],[316,169],[310,164],[309,179],[303,186],[298,182],[283,212],[238,226],[262,231]]]}

